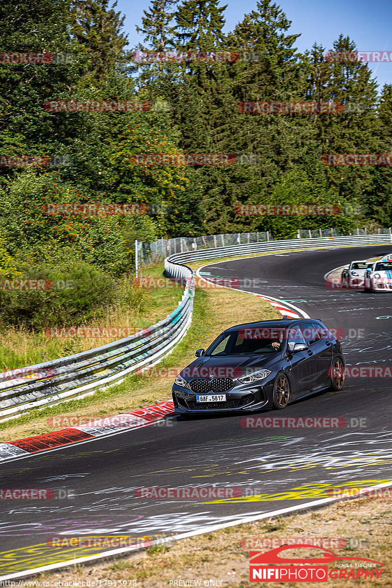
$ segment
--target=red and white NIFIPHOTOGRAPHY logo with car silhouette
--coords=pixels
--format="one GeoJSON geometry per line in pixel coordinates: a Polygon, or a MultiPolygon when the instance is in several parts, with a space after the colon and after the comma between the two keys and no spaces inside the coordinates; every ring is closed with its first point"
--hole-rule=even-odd
{"type": "Polygon", "coordinates": [[[297,543],[283,545],[267,552],[250,552],[250,582],[328,582],[331,580],[378,580],[384,572],[384,563],[365,557],[339,556],[328,549],[318,557],[284,557],[286,550],[303,549],[309,553],[311,545],[297,543]],[[333,563],[330,570],[326,564],[333,563]],[[267,565],[273,564],[273,565],[267,565]],[[380,566],[380,567],[377,567],[380,566]]]}

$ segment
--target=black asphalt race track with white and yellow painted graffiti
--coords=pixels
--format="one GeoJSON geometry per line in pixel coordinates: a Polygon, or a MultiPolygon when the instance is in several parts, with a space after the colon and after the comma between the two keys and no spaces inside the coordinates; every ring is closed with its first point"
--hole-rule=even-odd
{"type": "MultiPolygon", "coordinates": [[[[221,261],[202,271],[239,278],[245,290],[292,302],[328,327],[344,329],[347,365],[392,368],[392,294],[327,289],[323,279],[352,259],[390,252],[392,244],[293,252],[221,261]]],[[[252,429],[241,425],[238,413],[172,417],[160,426],[4,463],[3,489],[60,488],[75,496],[0,501],[0,577],[102,552],[53,550],[46,546],[51,536],[172,535],[307,503],[326,496],[330,487],[390,480],[391,382],[353,377],[341,392],[327,390],[283,411],[259,413],[344,417],[353,427],[252,429]],[[355,426],[359,419],[362,427],[355,426]],[[240,487],[247,497],[208,503],[135,496],[142,486],[200,485],[240,487]]]]}

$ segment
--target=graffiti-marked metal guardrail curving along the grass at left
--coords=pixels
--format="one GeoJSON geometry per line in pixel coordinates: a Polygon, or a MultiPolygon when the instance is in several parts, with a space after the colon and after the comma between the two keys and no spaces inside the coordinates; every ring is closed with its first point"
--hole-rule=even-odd
{"type": "Polygon", "coordinates": [[[182,300],[166,319],[135,335],[95,349],[0,373],[0,420],[55,405],[119,383],[143,366],[158,363],[183,338],[192,320],[195,273],[165,261],[166,275],[185,285],[182,300]]]}

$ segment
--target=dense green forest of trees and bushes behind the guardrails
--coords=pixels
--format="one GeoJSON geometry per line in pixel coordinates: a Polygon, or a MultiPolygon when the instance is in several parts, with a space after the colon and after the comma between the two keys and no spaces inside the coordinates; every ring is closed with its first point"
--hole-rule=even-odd
{"type": "MultiPolygon", "coordinates": [[[[78,313],[85,320],[92,316],[89,312],[121,297],[125,304],[145,303],[130,286],[135,239],[147,249],[162,236],[269,230],[279,238],[295,236],[299,229],[348,232],[366,223],[391,225],[390,168],[328,166],[321,158],[391,152],[392,86],[386,85],[377,99],[367,64],[326,59],[326,49],[317,43],[300,54],[295,47],[299,35],[271,0],[257,1],[227,35],[225,10],[217,0],[152,0],[138,28],[145,38],[140,48],[247,51],[255,52],[253,61],[126,68],[132,50],[126,49],[124,16],[116,2],[42,0],[37,5],[21,0],[15,5],[3,0],[2,53],[68,52],[75,59],[62,65],[0,64],[2,154],[72,159],[67,166],[0,166],[0,273],[4,279],[41,274],[52,279],[62,272],[73,279],[76,272],[80,282],[75,300],[72,290],[2,292],[4,324],[36,329],[52,319],[56,324],[76,320],[78,313]],[[110,113],[45,109],[45,102],[58,99],[158,100],[169,101],[172,108],[110,113]],[[243,101],[331,100],[361,108],[311,114],[244,113],[238,108],[243,101]],[[253,154],[259,162],[188,167],[136,161],[140,154],[182,153],[253,154]],[[135,203],[160,212],[49,215],[45,206],[53,203],[135,203]],[[359,205],[364,215],[243,217],[236,214],[236,206],[243,204],[359,205]],[[95,284],[92,290],[82,275],[95,284]],[[122,286],[115,295],[114,280],[117,285],[129,282],[129,295],[122,286]],[[42,307],[49,309],[46,318],[42,307]]],[[[333,50],[353,52],[356,44],[340,35],[333,50]]]]}

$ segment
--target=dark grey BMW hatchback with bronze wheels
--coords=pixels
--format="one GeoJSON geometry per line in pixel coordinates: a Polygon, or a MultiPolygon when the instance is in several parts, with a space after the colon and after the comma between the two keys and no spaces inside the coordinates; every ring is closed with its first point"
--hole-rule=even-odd
{"type": "Polygon", "coordinates": [[[344,384],[340,341],[319,319],[263,320],[226,329],[180,372],[175,412],[283,409],[293,400],[344,384]]]}

